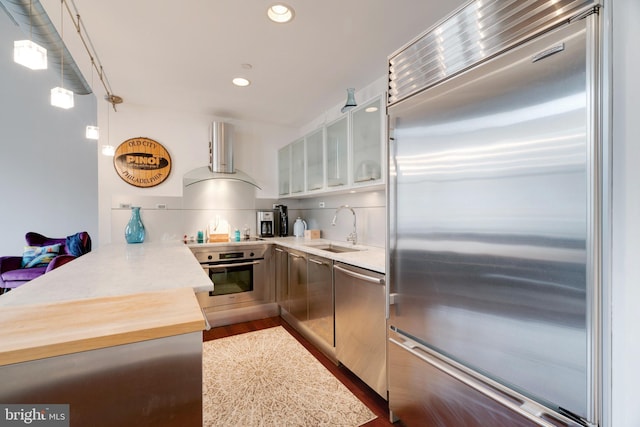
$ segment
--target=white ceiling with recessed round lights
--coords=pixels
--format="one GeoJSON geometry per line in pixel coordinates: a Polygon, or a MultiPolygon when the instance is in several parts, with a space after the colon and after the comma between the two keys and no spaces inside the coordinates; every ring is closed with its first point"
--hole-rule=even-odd
{"type": "MultiPolygon", "coordinates": [[[[286,0],[295,19],[275,24],[266,17],[275,0],[73,2],[125,103],[291,127],[343,103],[347,87],[357,93],[383,78],[389,54],[465,3],[286,0]],[[252,84],[236,87],[236,76],[252,84]]],[[[59,27],[60,0],[41,3],[59,27]]],[[[80,38],[62,16],[63,39],[102,99],[80,38]]]]}

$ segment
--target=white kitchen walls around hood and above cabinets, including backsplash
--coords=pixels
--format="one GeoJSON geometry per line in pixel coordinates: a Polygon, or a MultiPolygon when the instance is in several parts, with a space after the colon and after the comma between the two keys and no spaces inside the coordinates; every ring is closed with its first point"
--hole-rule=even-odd
{"type": "MultiPolygon", "coordinates": [[[[380,78],[372,84],[356,91],[356,101],[363,103],[384,91],[386,80],[380,78]]],[[[224,120],[234,126],[235,166],[251,175],[260,185],[256,190],[256,209],[270,208],[278,194],[277,188],[277,150],[291,141],[314,130],[324,123],[337,118],[345,98],[313,122],[300,129],[282,128],[262,123],[248,123],[224,120]]],[[[103,243],[124,241],[124,226],[129,210],[120,208],[120,204],[142,206],[142,219],[147,228],[147,241],[181,238],[191,236],[202,229],[207,219],[220,215],[228,219],[232,226],[244,227],[248,224],[255,234],[255,212],[242,206],[224,204],[217,209],[193,210],[193,207],[181,206],[184,194],[182,176],[195,168],[206,166],[209,156],[209,125],[213,120],[222,118],[194,114],[191,112],[170,111],[127,104],[117,106],[118,112],[107,109],[107,102],[98,105],[100,118],[100,144],[118,146],[123,141],[144,136],[164,145],[172,159],[172,171],[162,184],[151,188],[133,187],[120,179],[113,167],[113,158],[99,156],[99,194],[100,194],[100,237],[103,243]],[[105,130],[109,124],[108,132],[105,130]],[[158,203],[167,204],[168,209],[158,210],[158,203]],[[237,223],[237,224],[236,224],[237,223]]],[[[326,230],[327,238],[343,240],[349,233],[343,229],[348,221],[340,221],[331,226],[330,216],[326,213],[341,204],[351,204],[359,215],[359,235],[363,244],[384,247],[385,230],[384,194],[377,196],[329,196],[321,197],[329,202],[324,211],[313,212],[316,199],[286,199],[280,201],[292,209],[303,209],[301,215],[308,215],[314,227],[326,230]],[[355,203],[355,204],[354,204],[355,203]]],[[[291,214],[290,216],[293,216],[291,214]]],[[[294,220],[295,217],[292,218],[294,220]]],[[[293,224],[293,223],[292,223],[293,224]]],[[[349,227],[347,227],[349,228],[349,227]]]]}

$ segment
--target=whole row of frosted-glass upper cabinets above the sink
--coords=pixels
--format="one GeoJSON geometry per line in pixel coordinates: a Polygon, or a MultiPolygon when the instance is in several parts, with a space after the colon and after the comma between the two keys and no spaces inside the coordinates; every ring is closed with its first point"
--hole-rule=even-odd
{"type": "Polygon", "coordinates": [[[280,197],[384,184],[387,129],[383,99],[378,96],[282,148],[278,156],[280,197]],[[284,164],[287,148],[290,162],[284,164]]]}

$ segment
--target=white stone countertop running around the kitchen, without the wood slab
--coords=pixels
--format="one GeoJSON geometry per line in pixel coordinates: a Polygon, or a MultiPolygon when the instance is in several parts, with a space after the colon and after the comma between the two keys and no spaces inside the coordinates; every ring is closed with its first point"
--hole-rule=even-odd
{"type": "Polygon", "coordinates": [[[385,272],[385,251],[356,245],[355,252],[332,253],[313,245],[349,242],[298,237],[274,237],[261,241],[185,245],[179,241],[101,246],[73,262],[0,296],[0,307],[48,304],[111,297],[176,288],[209,289],[211,281],[190,247],[278,244],[380,273],[385,272]]]}

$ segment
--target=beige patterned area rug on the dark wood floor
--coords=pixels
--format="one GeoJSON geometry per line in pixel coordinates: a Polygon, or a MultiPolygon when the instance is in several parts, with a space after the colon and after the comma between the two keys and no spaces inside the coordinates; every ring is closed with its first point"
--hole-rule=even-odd
{"type": "Polygon", "coordinates": [[[283,327],[203,343],[203,426],[348,426],[376,418],[283,327]]]}

